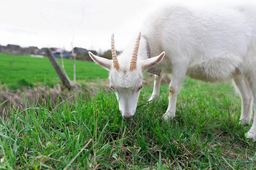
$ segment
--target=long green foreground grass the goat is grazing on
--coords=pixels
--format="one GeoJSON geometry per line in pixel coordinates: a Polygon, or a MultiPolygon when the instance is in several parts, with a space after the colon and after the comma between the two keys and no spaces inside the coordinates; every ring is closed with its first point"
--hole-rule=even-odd
{"type": "Polygon", "coordinates": [[[177,117],[161,118],[168,85],[124,121],[115,94],[99,92],[88,101],[77,95],[50,115],[46,107],[8,109],[1,118],[2,169],[245,169],[256,168],[250,126],[239,124],[240,98],[230,83],[209,85],[186,79],[177,98],[177,117]]]}

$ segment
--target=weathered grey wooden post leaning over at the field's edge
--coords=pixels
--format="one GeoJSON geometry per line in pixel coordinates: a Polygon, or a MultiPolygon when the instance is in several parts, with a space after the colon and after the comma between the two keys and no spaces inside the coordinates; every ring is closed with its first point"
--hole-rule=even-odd
{"type": "Polygon", "coordinates": [[[57,60],[55,59],[54,55],[52,54],[51,50],[47,48],[46,55],[49,58],[52,66],[54,67],[55,71],[57,72],[58,76],[61,78],[62,83],[68,88],[72,89],[74,84],[70,81],[68,76],[61,70],[60,65],[58,64],[57,60]]]}

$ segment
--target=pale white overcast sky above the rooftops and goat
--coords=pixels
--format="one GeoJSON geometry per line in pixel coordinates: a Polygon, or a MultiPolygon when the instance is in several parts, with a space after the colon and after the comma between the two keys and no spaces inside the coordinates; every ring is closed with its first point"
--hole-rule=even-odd
{"type": "Polygon", "coordinates": [[[116,48],[123,50],[154,8],[239,3],[255,4],[254,0],[1,0],[0,45],[70,50],[73,41],[74,47],[104,51],[115,33],[116,48]]]}

